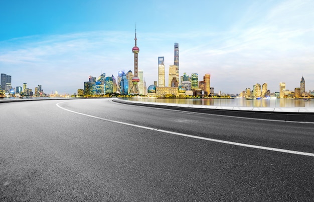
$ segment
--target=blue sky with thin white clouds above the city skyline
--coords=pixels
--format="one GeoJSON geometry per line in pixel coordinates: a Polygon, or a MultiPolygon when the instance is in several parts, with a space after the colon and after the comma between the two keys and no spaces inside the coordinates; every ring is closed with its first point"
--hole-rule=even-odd
{"type": "MultiPolygon", "coordinates": [[[[256,83],[314,90],[313,0],[0,0],[0,73],[12,85],[77,93],[89,75],[138,69],[166,81],[179,43],[179,73],[211,74],[215,92],[256,83]]],[[[167,85],[167,82],[166,82],[167,85]]]]}

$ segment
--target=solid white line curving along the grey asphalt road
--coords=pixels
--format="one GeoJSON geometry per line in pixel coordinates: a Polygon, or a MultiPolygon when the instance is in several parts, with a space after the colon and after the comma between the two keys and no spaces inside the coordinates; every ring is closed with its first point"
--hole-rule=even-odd
{"type": "Polygon", "coordinates": [[[73,113],[77,113],[77,114],[80,114],[80,115],[89,116],[89,117],[92,117],[92,118],[97,118],[97,119],[100,119],[100,120],[109,121],[109,122],[115,122],[115,123],[119,123],[119,124],[133,126],[133,127],[140,127],[140,128],[144,128],[144,129],[155,130],[155,131],[165,132],[165,133],[169,133],[169,134],[176,134],[176,135],[192,137],[192,138],[196,138],[196,139],[203,139],[203,140],[207,140],[207,141],[215,141],[215,142],[232,144],[232,145],[237,145],[237,146],[259,148],[259,149],[264,149],[264,150],[279,151],[279,152],[292,153],[292,154],[298,154],[298,155],[314,156],[314,153],[308,153],[308,152],[302,152],[302,151],[294,151],[294,150],[281,149],[281,148],[266,147],[266,146],[258,146],[258,145],[252,145],[252,144],[244,144],[244,143],[238,143],[238,142],[233,142],[233,141],[225,141],[225,140],[220,140],[220,139],[213,139],[213,138],[195,136],[195,135],[191,135],[191,134],[184,134],[184,133],[180,133],[180,132],[173,132],[173,131],[168,131],[168,130],[162,130],[162,129],[158,129],[158,128],[146,127],[146,126],[142,126],[142,125],[135,125],[135,124],[121,122],[121,121],[117,121],[117,120],[110,120],[110,119],[107,119],[107,118],[102,118],[102,117],[98,117],[98,116],[89,115],[89,114],[86,114],[86,113],[81,113],[81,112],[77,112],[77,111],[72,111],[70,109],[66,109],[66,108],[60,106],[59,105],[60,103],[63,103],[63,102],[59,102],[56,105],[59,108],[63,109],[63,110],[70,111],[70,112],[73,112],[73,113]]]}

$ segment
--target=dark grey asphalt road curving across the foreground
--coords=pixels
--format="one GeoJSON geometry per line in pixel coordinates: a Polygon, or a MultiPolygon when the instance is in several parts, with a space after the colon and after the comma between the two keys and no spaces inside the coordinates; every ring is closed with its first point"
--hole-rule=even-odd
{"type": "Polygon", "coordinates": [[[0,103],[0,111],[0,201],[314,200],[312,123],[110,99],[0,103]]]}

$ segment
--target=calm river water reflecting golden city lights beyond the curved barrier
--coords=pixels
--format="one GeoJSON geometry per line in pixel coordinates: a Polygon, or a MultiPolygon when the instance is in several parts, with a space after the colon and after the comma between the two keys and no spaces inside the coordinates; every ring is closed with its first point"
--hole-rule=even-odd
{"type": "Polygon", "coordinates": [[[150,98],[150,97],[133,97],[130,100],[148,101],[148,102],[165,102],[179,104],[201,104],[213,106],[253,106],[253,107],[314,107],[314,99],[251,99],[246,98],[206,98],[206,99],[176,99],[176,98],[150,98]]]}

